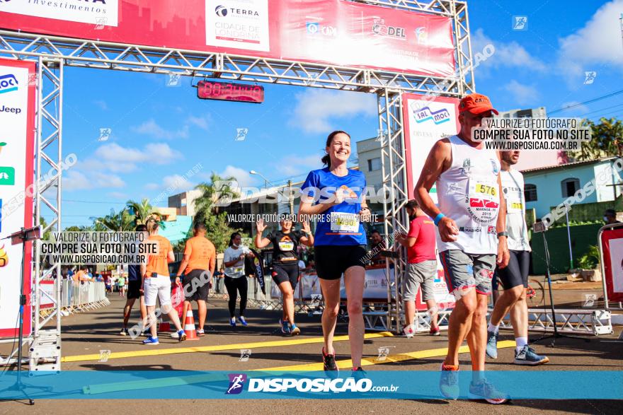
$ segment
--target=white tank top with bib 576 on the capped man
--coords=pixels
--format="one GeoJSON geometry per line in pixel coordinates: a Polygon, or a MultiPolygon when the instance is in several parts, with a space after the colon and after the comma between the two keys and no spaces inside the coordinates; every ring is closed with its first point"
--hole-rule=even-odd
{"type": "Polygon", "coordinates": [[[439,209],[454,219],[459,228],[455,242],[442,242],[439,252],[462,250],[467,254],[496,254],[496,221],[500,206],[498,174],[500,162],[495,151],[477,149],[458,136],[451,136],[452,165],[437,179],[439,209]]]}

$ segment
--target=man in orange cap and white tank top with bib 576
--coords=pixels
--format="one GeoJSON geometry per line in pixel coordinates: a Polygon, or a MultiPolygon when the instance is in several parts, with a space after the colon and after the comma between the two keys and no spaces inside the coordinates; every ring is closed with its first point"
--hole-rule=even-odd
{"type": "Polygon", "coordinates": [[[487,303],[496,264],[508,264],[506,209],[500,160],[472,129],[498,114],[486,95],[472,93],[459,103],[459,134],[437,141],[428,154],[414,194],[438,227],[439,257],[456,303],[448,324],[448,351],[441,364],[440,392],[459,397],[459,348],[464,339],[471,354],[469,396],[499,404],[508,397],[484,378],[487,303]],[[439,204],[428,192],[436,184],[439,204]]]}

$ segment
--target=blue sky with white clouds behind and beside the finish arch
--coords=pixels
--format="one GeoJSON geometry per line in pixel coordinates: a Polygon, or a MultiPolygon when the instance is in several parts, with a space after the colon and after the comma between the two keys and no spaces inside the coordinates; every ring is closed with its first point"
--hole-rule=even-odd
{"type": "MultiPolygon", "coordinates": [[[[548,112],[622,87],[623,40],[617,1],[472,0],[472,49],[496,53],[476,69],[476,89],[498,110],[541,107],[548,112]],[[527,30],[513,30],[527,16],[527,30]],[[595,71],[585,84],[585,71],[595,71]]],[[[320,167],[333,129],[355,141],[377,134],[373,95],[265,85],[261,105],[199,100],[190,78],[167,87],[165,76],[66,68],[63,153],[79,162],[64,173],[63,227],[120,209],[127,199],[156,198],[176,184],[183,192],[212,171],[241,185],[303,180],[320,167]],[[101,128],[112,129],[98,141],[101,128]],[[247,128],[236,141],[236,129],[247,128]],[[183,175],[201,163],[193,177],[183,175]]],[[[623,117],[623,95],[556,113],[562,117],[623,117]]],[[[159,204],[164,206],[164,203],[159,204]]]]}

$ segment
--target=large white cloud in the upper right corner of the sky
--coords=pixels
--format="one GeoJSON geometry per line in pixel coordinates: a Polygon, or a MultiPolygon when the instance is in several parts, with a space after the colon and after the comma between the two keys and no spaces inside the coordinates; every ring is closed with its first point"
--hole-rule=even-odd
{"type": "Polygon", "coordinates": [[[610,1],[583,28],[559,40],[559,69],[570,81],[583,80],[584,71],[595,71],[603,64],[623,69],[620,13],[623,13],[623,0],[610,1]]]}

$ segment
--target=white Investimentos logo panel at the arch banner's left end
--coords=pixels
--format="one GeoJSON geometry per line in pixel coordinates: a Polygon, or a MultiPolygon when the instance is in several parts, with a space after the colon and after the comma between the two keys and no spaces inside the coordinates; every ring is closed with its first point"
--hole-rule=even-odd
{"type": "Polygon", "coordinates": [[[0,1],[0,11],[116,27],[119,3],[120,0],[0,1]]]}

